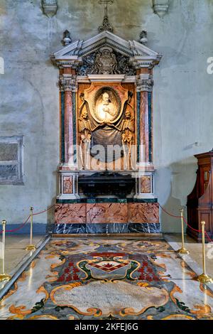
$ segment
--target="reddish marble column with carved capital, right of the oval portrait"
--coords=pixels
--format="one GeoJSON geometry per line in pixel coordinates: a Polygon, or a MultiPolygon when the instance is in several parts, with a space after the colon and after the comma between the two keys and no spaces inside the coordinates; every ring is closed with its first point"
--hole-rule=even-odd
{"type": "Polygon", "coordinates": [[[139,117],[138,117],[138,127],[139,127],[139,142],[140,152],[139,152],[139,165],[147,166],[152,163],[150,161],[150,129],[151,129],[151,119],[149,119],[149,102],[148,94],[152,92],[153,89],[153,77],[151,74],[145,73],[140,74],[137,77],[137,91],[140,93],[140,106],[139,106],[139,117]]]}

